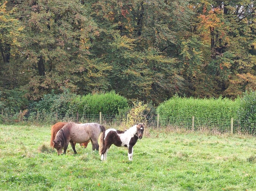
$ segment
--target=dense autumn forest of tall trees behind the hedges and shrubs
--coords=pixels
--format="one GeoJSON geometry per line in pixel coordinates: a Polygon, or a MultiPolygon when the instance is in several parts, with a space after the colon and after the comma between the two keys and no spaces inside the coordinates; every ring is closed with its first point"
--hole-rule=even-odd
{"type": "Polygon", "coordinates": [[[252,0],[2,0],[0,107],[67,89],[236,98],[256,90],[255,23],[252,0]]]}

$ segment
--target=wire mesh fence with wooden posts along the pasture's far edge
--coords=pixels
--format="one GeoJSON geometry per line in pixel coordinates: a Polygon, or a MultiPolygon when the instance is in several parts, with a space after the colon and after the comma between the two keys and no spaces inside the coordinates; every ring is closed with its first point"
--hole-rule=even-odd
{"type": "MultiPolygon", "coordinates": [[[[15,115],[3,113],[0,114],[0,122],[2,123],[31,123],[52,125],[59,121],[63,122],[97,122],[107,127],[123,126],[129,119],[126,115],[107,115],[102,114],[63,114],[63,113],[45,113],[45,112],[20,112],[15,115]]],[[[202,119],[194,116],[188,117],[170,117],[163,119],[159,115],[153,115],[144,121],[148,128],[152,129],[183,129],[187,131],[204,131],[214,133],[236,133],[256,135],[255,123],[244,123],[239,119],[222,119],[213,121],[212,119],[202,119]],[[247,125],[244,125],[247,124],[247,125]]]]}

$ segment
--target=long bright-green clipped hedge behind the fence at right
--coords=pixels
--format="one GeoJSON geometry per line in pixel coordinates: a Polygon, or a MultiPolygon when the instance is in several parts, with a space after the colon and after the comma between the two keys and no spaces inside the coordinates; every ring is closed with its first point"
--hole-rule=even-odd
{"type": "Polygon", "coordinates": [[[174,96],[157,107],[157,113],[161,120],[168,121],[171,118],[187,119],[198,118],[212,122],[222,121],[230,124],[231,118],[237,118],[239,100],[228,98],[195,99],[174,96]]]}

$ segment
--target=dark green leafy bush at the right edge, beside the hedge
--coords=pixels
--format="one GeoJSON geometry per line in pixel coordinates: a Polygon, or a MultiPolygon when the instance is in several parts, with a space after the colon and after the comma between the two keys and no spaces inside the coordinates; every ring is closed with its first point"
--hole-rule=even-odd
{"type": "Polygon", "coordinates": [[[241,125],[254,129],[256,121],[256,92],[246,91],[240,99],[239,105],[237,115],[241,125]]]}

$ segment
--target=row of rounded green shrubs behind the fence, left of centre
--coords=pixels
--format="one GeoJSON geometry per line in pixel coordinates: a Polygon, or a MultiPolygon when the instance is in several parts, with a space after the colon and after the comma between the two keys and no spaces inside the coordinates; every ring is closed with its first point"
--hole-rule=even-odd
{"type": "Polygon", "coordinates": [[[99,114],[116,115],[119,109],[128,107],[125,97],[114,91],[102,94],[76,95],[66,90],[63,94],[47,94],[34,106],[40,112],[59,114],[99,114]]]}

